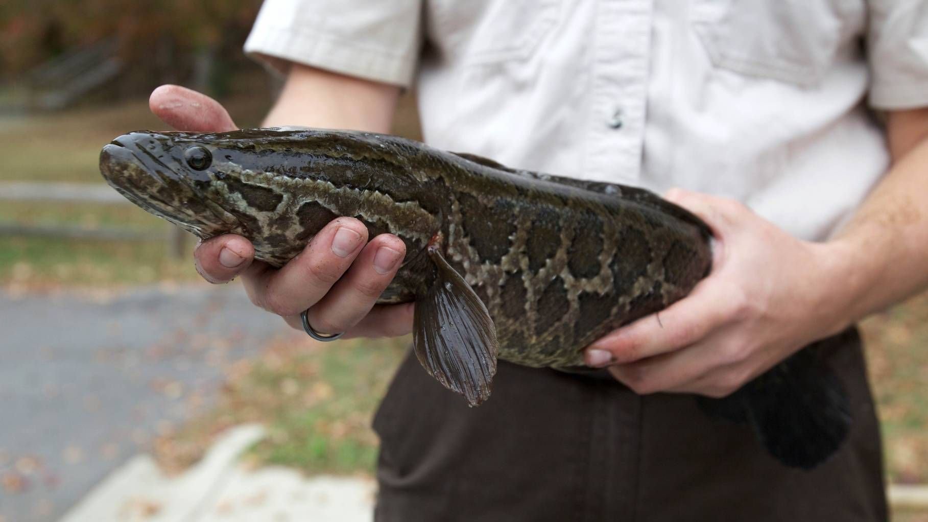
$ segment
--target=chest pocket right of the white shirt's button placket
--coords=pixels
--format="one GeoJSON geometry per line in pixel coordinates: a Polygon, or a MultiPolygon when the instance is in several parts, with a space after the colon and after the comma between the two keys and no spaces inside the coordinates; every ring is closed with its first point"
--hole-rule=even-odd
{"type": "Polygon", "coordinates": [[[715,67],[816,85],[863,24],[860,0],[692,0],[690,21],[715,67]]]}

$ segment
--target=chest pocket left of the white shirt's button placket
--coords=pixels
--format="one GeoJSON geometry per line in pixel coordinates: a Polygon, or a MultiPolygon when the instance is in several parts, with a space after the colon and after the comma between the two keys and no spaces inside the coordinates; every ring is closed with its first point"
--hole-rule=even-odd
{"type": "Polygon", "coordinates": [[[557,25],[563,0],[432,0],[432,37],[469,65],[535,56],[557,25]]]}

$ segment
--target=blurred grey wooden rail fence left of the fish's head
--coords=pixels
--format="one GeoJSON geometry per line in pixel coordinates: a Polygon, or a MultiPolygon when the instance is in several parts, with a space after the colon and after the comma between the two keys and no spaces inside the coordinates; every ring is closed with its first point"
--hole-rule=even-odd
{"type": "MultiPolygon", "coordinates": [[[[63,202],[75,204],[132,204],[107,185],[80,183],[0,183],[0,202],[63,202]]],[[[164,232],[152,233],[129,228],[86,228],[77,225],[24,225],[0,221],[0,235],[58,237],[97,241],[163,241],[168,254],[184,255],[189,235],[181,228],[167,225],[164,232]]]]}

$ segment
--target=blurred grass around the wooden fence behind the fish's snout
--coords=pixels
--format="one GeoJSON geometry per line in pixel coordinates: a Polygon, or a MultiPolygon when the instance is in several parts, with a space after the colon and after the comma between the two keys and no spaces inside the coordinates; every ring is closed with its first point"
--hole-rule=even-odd
{"type": "MultiPolygon", "coordinates": [[[[260,76],[242,77],[224,104],[242,125],[256,125],[270,104],[260,76]],[[254,93],[257,92],[258,96],[254,93]]],[[[140,128],[162,129],[145,99],[111,107],[81,108],[0,125],[0,181],[102,183],[100,148],[140,128]]],[[[171,226],[135,206],[4,202],[0,223],[81,228],[127,228],[153,241],[67,241],[0,236],[0,284],[21,288],[55,285],[139,284],[198,279],[189,254],[174,258],[158,240],[171,226]]],[[[192,249],[192,241],[187,248],[192,249]]]]}

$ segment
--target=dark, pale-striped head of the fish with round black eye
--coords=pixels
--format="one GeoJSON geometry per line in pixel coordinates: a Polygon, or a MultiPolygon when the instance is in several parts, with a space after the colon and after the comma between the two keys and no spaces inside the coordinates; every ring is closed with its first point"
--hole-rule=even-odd
{"type": "Polygon", "coordinates": [[[280,266],[338,215],[338,203],[360,197],[336,185],[374,179],[374,169],[338,158],[375,148],[365,133],[305,128],[136,131],[103,148],[100,173],[149,213],[200,238],[242,235],[256,257],[280,266]]]}

